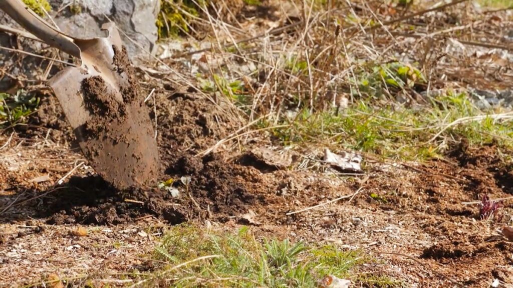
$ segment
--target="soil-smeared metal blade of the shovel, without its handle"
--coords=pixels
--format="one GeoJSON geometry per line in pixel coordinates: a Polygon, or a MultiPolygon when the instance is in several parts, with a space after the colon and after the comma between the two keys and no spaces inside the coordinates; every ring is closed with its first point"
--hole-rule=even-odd
{"type": "Polygon", "coordinates": [[[62,70],[49,85],[90,165],[112,186],[124,190],[155,183],[159,156],[143,100],[123,95],[137,94],[133,92],[137,84],[127,74],[131,68],[120,69],[113,59],[97,57],[102,50],[104,56],[112,55],[109,39],[77,40],[83,46],[82,67],[62,70]]]}

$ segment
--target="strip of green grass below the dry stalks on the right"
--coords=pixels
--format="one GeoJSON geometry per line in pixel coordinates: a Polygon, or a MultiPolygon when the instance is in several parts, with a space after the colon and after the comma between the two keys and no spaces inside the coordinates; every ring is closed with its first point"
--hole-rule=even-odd
{"type": "MultiPolygon", "coordinates": [[[[281,124],[288,126],[273,129],[273,135],[283,145],[334,146],[407,160],[438,157],[451,142],[461,138],[467,138],[472,145],[497,142],[511,149],[511,120],[495,121],[486,116],[447,128],[457,119],[480,115],[486,116],[465,94],[441,96],[419,109],[374,107],[368,101],[360,101],[338,115],[333,111],[311,113],[305,109],[295,118],[284,120],[281,124]]],[[[265,122],[260,125],[269,126],[265,122]]]]}

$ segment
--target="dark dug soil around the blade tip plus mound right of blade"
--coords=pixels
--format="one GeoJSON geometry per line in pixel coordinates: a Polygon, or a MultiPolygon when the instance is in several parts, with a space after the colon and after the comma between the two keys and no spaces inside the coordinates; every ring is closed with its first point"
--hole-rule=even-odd
{"type": "Polygon", "coordinates": [[[184,94],[158,95],[157,103],[163,159],[158,175],[161,180],[175,179],[179,197],[157,188],[117,191],[100,177],[74,178],[57,197],[45,199],[41,216],[56,224],[117,224],[146,215],[171,224],[196,219],[223,222],[264,202],[263,194],[254,189],[255,183],[264,187],[263,179],[252,173],[253,168],[227,163],[220,154],[194,156],[235,130],[221,106],[184,94]],[[180,180],[183,176],[191,179],[187,186],[180,180]]]}

